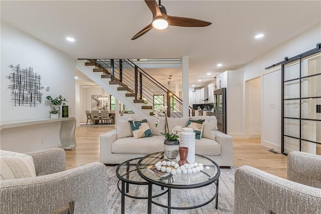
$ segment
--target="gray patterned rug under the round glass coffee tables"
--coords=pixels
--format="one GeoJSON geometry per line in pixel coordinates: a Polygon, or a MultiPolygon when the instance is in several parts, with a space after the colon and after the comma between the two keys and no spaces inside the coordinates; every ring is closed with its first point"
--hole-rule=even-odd
{"type": "MultiPolygon", "coordinates": [[[[108,176],[108,213],[120,213],[121,211],[121,193],[117,189],[118,178],[116,177],[116,167],[107,166],[108,176]]],[[[234,172],[236,167],[231,169],[221,169],[219,179],[219,199],[218,209],[215,208],[215,199],[211,203],[188,210],[172,209],[172,213],[233,213],[234,209],[234,172]]],[[[130,174],[131,180],[143,181],[137,173],[130,174]]],[[[120,187],[120,183],[119,183],[120,187]]],[[[163,192],[161,187],[153,185],[153,195],[163,192]]],[[[206,202],[214,195],[215,185],[209,185],[199,189],[177,190],[172,189],[172,206],[193,206],[206,202]]],[[[147,186],[132,185],[129,186],[130,195],[147,196],[147,186]]],[[[167,204],[167,194],[158,198],[154,198],[158,203],[167,204]]],[[[125,213],[146,213],[147,212],[147,199],[133,199],[125,197],[125,213]]],[[[161,206],[152,204],[152,213],[168,213],[167,209],[161,206]]]]}

